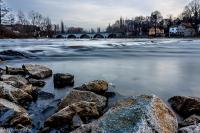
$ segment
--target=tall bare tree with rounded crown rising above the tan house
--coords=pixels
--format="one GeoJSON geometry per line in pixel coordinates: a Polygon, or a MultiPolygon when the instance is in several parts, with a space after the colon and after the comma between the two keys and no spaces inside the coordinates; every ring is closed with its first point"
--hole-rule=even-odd
{"type": "Polygon", "coordinates": [[[161,15],[161,13],[159,11],[154,11],[151,13],[151,22],[155,27],[155,36],[156,36],[156,29],[158,26],[158,23],[160,23],[163,20],[163,16],[161,15]]]}

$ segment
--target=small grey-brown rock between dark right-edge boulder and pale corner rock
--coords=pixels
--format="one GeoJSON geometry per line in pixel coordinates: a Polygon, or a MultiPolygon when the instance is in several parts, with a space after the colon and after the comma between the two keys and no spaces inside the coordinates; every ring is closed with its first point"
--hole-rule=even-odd
{"type": "Polygon", "coordinates": [[[196,125],[198,123],[200,123],[200,116],[192,115],[192,116],[188,117],[187,119],[185,119],[184,121],[182,121],[181,123],[179,123],[179,127],[196,125]]]}

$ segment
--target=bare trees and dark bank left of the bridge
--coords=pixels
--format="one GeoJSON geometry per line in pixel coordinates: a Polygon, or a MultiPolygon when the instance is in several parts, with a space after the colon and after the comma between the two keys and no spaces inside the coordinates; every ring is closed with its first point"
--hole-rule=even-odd
{"type": "Polygon", "coordinates": [[[51,37],[58,25],[53,25],[48,16],[37,11],[25,14],[21,10],[17,13],[7,7],[4,0],[0,0],[0,37],[51,37]],[[55,29],[53,31],[53,29],[55,29]],[[20,33],[15,33],[20,31],[20,33]]]}

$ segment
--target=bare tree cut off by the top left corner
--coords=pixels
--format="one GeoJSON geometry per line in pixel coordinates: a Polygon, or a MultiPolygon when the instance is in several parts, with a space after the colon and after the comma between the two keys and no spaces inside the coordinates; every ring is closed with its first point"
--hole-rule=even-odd
{"type": "Polygon", "coordinates": [[[8,12],[8,7],[5,5],[3,0],[0,0],[0,25],[2,25],[8,12]]]}

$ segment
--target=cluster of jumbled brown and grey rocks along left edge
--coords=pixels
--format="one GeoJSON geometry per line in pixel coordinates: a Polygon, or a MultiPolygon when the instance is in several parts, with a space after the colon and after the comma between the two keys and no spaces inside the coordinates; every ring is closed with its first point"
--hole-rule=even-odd
{"type": "Polygon", "coordinates": [[[24,108],[34,99],[42,79],[52,75],[52,70],[41,65],[26,64],[21,68],[6,67],[0,73],[0,127],[32,127],[30,115],[24,108]]]}

